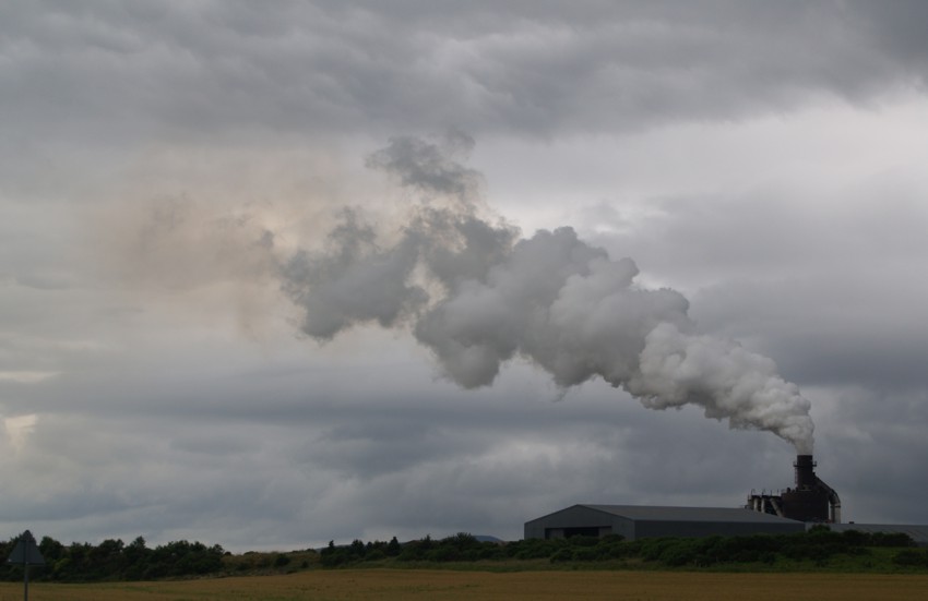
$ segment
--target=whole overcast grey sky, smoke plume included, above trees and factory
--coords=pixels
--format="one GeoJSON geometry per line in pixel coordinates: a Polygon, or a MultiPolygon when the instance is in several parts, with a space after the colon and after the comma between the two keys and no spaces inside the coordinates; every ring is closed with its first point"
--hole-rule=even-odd
{"type": "Polygon", "coordinates": [[[740,506],[812,422],[925,524],[926,21],[0,4],[0,532],[514,540],[740,506]]]}

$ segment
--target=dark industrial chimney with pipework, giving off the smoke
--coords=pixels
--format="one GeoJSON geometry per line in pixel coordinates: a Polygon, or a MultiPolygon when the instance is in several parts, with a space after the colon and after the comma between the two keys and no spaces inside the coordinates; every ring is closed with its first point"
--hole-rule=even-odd
{"type": "Polygon", "coordinates": [[[780,494],[754,494],[748,497],[747,508],[799,521],[841,522],[841,498],[837,493],[816,476],[816,461],[811,455],[798,455],[796,488],[780,494]]]}

